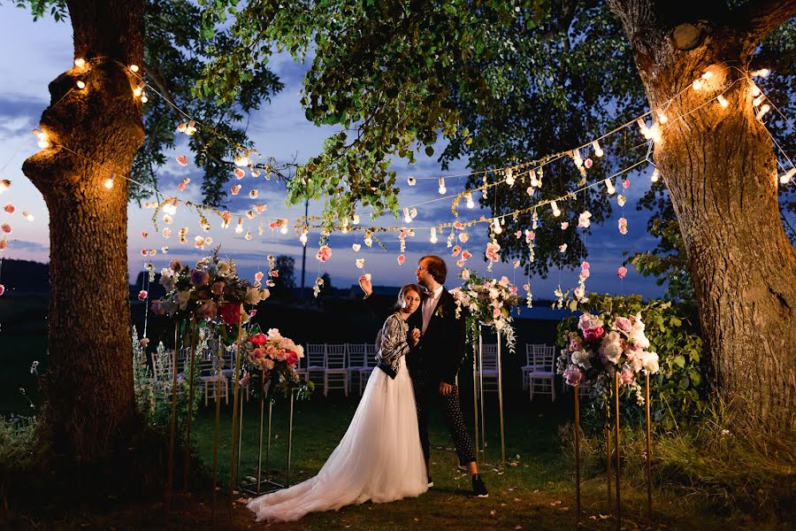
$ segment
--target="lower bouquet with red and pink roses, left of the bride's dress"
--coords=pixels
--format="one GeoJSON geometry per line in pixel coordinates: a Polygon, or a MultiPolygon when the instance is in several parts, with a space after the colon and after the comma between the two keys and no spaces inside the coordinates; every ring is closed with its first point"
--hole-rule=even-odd
{"type": "Polygon", "coordinates": [[[296,372],[299,361],[304,357],[301,345],[280,335],[277,328],[263,334],[255,325],[245,334],[241,338],[243,387],[269,399],[277,392],[287,394],[291,389],[299,389],[300,397],[312,392],[312,382],[302,381],[296,372]]]}

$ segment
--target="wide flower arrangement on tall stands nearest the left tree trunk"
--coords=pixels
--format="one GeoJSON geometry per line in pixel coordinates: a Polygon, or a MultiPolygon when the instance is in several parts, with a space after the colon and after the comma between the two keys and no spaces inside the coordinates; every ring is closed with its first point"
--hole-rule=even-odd
{"type": "MultiPolygon", "coordinates": [[[[152,302],[152,312],[172,318],[215,320],[220,318],[227,326],[241,319],[241,304],[256,305],[271,293],[238,277],[231,259],[218,258],[218,248],[191,268],[179,260],[172,260],[161,272],[160,283],[166,289],[163,299],[152,302]]],[[[249,320],[245,312],[243,321],[249,320]]]]}

